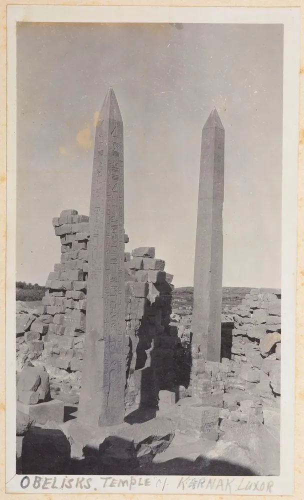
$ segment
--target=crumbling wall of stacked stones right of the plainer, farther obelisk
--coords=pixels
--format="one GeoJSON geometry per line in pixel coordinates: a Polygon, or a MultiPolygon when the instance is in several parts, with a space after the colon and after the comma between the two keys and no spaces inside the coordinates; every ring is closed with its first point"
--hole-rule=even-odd
{"type": "MultiPolygon", "coordinates": [[[[235,308],[231,382],[271,403],[280,399],[281,294],[279,289],[253,288],[235,308]]],[[[235,385],[234,385],[235,386],[235,385]]]]}

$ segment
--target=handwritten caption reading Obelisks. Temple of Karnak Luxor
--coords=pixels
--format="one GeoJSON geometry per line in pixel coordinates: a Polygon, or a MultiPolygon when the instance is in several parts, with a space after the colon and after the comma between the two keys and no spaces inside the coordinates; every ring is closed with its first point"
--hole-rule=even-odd
{"type": "Polygon", "coordinates": [[[244,477],[203,477],[203,476],[180,476],[177,479],[170,476],[22,476],[20,480],[21,490],[113,490],[131,491],[135,489],[155,488],[159,491],[193,491],[207,490],[209,492],[220,492],[232,494],[238,491],[263,492],[271,494],[273,481],[247,479],[244,477]]]}

